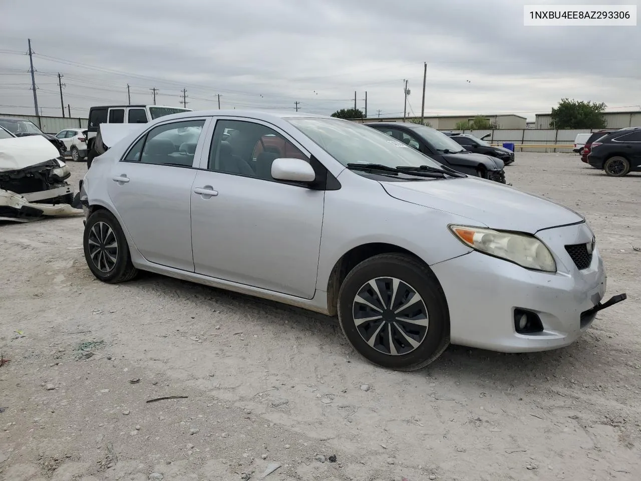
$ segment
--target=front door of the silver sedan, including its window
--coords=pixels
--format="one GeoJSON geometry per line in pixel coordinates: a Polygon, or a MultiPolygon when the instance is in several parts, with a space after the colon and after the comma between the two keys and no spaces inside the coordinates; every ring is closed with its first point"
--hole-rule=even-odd
{"type": "Polygon", "coordinates": [[[274,159],[309,153],[253,119],[217,120],[208,147],[192,189],[196,273],[311,299],[324,191],[271,176],[274,159]]]}

